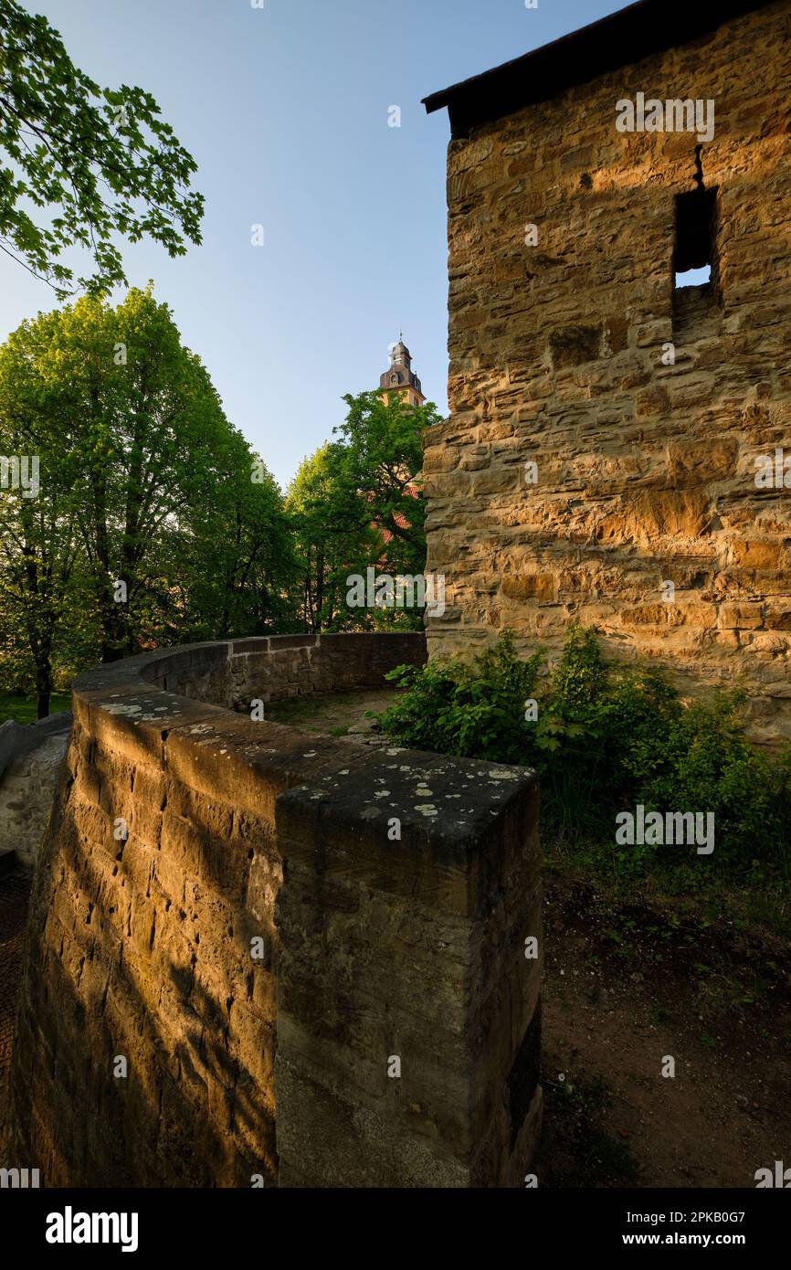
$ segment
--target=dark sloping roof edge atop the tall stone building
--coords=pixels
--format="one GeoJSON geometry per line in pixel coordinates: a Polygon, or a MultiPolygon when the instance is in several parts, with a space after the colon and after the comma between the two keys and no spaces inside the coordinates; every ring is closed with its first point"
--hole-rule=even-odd
{"type": "Polygon", "coordinates": [[[640,0],[523,57],[432,93],[423,104],[429,114],[447,107],[452,135],[461,137],[479,123],[546,102],[566,88],[689,43],[730,18],[764,8],[769,6],[762,0],[640,0]]]}

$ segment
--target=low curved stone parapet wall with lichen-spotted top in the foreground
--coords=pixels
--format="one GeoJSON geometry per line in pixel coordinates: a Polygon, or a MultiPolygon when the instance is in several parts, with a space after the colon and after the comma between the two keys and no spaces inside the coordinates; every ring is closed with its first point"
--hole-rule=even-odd
{"type": "Polygon", "coordinates": [[[415,634],[282,638],[77,681],[8,1167],[48,1186],[519,1184],[541,1111],[533,776],[227,709],[424,658],[415,634]]]}

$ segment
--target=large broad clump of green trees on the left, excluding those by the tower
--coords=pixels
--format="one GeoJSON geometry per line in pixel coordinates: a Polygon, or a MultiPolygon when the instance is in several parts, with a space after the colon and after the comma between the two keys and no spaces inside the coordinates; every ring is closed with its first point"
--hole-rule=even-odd
{"type": "Polygon", "coordinates": [[[0,491],[0,605],[39,709],[60,662],[282,618],[296,568],[282,497],[151,288],[14,331],[0,455],[39,460],[36,498],[0,491]]]}

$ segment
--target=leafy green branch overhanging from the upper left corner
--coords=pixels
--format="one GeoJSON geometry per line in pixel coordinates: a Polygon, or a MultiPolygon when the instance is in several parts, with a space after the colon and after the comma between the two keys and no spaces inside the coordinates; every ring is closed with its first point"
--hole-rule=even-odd
{"type": "Polygon", "coordinates": [[[60,298],[124,283],[113,235],[145,235],[169,255],[201,243],[197,170],[150,93],[100,89],[74,66],[58,33],[17,0],[0,0],[0,249],[60,298]],[[5,160],[5,161],[4,161],[5,160]],[[38,212],[46,210],[39,217],[38,212]],[[88,250],[95,272],[74,279],[61,259],[88,250]]]}

